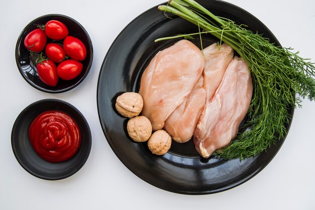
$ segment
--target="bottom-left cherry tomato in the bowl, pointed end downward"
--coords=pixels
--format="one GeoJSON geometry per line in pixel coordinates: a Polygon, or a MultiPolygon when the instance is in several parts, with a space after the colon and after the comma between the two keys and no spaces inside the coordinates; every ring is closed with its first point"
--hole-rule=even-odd
{"type": "Polygon", "coordinates": [[[49,86],[56,86],[58,82],[57,66],[51,60],[44,60],[37,64],[39,78],[49,86]]]}

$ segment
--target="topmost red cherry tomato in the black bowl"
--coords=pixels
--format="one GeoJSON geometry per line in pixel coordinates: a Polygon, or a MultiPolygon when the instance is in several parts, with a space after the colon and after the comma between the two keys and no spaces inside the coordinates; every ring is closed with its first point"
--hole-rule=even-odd
{"type": "Polygon", "coordinates": [[[69,31],[67,27],[60,21],[52,20],[46,23],[45,33],[50,39],[62,40],[68,36],[69,31]]]}

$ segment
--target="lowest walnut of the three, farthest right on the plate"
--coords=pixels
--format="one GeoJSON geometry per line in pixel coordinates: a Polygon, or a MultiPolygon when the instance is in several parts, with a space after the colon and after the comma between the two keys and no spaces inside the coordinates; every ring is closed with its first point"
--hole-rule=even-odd
{"type": "Polygon", "coordinates": [[[147,142],[150,151],[156,155],[164,155],[171,148],[172,137],[164,130],[155,131],[147,142]]]}

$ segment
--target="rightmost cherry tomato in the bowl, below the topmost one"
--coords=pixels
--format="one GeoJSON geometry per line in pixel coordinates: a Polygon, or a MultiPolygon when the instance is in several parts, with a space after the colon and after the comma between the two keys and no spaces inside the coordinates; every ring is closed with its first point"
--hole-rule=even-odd
{"type": "Polygon", "coordinates": [[[64,52],[74,60],[84,60],[87,57],[87,48],[80,39],[67,36],[63,41],[64,52]]]}

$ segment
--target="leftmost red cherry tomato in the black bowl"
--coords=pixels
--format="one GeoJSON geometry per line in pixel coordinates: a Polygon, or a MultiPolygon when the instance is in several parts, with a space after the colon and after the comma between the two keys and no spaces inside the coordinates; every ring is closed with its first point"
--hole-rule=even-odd
{"type": "Polygon", "coordinates": [[[24,39],[24,45],[28,50],[40,52],[45,48],[47,36],[40,28],[28,33],[24,39]]]}

